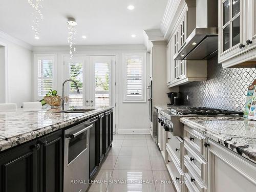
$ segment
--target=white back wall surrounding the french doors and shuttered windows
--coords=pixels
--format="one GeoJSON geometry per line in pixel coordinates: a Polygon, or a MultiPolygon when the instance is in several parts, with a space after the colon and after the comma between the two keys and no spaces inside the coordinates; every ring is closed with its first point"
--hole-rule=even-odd
{"type": "MultiPolygon", "coordinates": [[[[88,55],[116,55],[116,68],[118,85],[117,109],[118,109],[118,129],[135,129],[140,132],[141,128],[148,129],[148,104],[147,103],[123,103],[122,88],[122,54],[123,53],[145,53],[143,45],[115,45],[115,46],[77,46],[74,56],[88,55]]],[[[69,56],[68,46],[34,47],[33,54],[57,54],[57,87],[58,93],[61,93],[61,84],[64,80],[63,56],[69,56]]],[[[148,65],[147,65],[148,67],[148,65]]],[[[148,74],[148,73],[147,73],[148,74]]],[[[148,76],[148,75],[147,75],[148,76]]],[[[35,80],[34,80],[35,81],[35,80]]],[[[146,83],[146,85],[148,82],[146,83]]],[[[147,130],[148,131],[148,130],[147,130]]],[[[119,132],[120,133],[120,132],[119,132]]]]}

